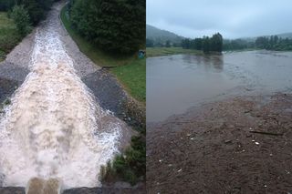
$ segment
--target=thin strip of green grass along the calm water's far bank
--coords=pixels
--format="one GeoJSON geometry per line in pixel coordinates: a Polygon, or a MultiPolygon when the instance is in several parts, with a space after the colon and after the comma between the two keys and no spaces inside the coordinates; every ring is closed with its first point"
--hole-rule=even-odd
{"type": "Polygon", "coordinates": [[[152,56],[170,56],[178,54],[203,54],[200,50],[183,49],[183,47],[147,47],[146,55],[152,56]]]}

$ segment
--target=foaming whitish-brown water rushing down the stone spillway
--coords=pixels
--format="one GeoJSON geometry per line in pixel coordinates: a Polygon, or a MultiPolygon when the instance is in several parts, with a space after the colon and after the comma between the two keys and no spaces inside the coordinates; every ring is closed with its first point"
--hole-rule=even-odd
{"type": "Polygon", "coordinates": [[[0,120],[4,186],[38,177],[96,187],[100,165],[118,151],[120,121],[97,105],[62,44],[53,27],[38,29],[31,73],[0,120]]]}

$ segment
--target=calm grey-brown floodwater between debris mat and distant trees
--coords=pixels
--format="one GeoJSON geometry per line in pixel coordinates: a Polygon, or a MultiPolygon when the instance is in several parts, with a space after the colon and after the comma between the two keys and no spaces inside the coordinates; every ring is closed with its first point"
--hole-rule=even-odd
{"type": "Polygon", "coordinates": [[[225,97],[292,91],[292,53],[247,51],[223,56],[147,59],[147,122],[225,97]]]}

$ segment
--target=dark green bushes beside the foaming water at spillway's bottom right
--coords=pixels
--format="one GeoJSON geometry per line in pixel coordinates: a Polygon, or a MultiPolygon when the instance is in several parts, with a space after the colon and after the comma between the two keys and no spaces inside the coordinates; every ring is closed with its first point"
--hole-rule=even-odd
{"type": "Polygon", "coordinates": [[[130,148],[125,151],[124,155],[117,155],[112,162],[107,163],[106,167],[100,168],[100,179],[107,182],[121,179],[134,185],[139,178],[145,179],[145,173],[146,139],[144,129],[140,136],[131,139],[130,148]]]}

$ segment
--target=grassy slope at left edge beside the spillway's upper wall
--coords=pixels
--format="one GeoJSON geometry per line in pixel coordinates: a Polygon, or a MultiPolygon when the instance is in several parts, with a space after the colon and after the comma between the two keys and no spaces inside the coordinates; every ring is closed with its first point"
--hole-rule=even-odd
{"type": "Polygon", "coordinates": [[[5,12],[0,12],[0,62],[21,41],[16,25],[5,12]]]}

